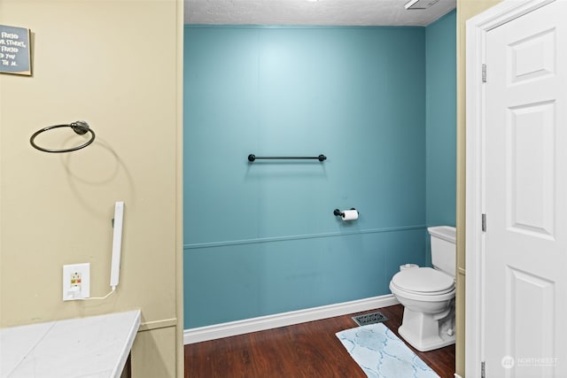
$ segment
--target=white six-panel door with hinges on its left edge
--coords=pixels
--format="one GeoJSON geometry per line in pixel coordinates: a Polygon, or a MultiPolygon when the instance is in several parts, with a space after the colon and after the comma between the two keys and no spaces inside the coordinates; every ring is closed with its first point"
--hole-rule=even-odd
{"type": "Polygon", "coordinates": [[[567,377],[567,2],[485,46],[485,376],[567,377]]]}

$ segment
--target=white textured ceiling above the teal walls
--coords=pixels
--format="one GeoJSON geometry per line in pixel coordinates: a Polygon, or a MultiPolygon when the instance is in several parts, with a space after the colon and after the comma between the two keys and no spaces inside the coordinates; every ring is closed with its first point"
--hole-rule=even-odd
{"type": "Polygon", "coordinates": [[[184,0],[186,24],[423,27],[454,10],[439,0],[406,10],[408,0],[184,0]]]}

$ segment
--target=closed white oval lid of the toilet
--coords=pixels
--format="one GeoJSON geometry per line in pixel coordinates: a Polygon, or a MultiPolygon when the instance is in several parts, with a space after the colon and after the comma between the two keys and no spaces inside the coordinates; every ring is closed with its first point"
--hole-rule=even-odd
{"type": "Polygon", "coordinates": [[[431,267],[405,269],[394,274],[392,283],[398,288],[416,293],[448,292],[454,287],[454,279],[448,274],[438,272],[431,267]]]}

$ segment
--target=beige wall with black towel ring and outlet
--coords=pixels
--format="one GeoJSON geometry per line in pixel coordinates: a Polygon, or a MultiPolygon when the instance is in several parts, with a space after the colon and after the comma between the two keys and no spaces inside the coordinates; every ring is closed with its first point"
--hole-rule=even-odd
{"type": "MultiPolygon", "coordinates": [[[[0,0],[32,30],[33,76],[0,74],[0,326],[142,310],[137,377],[183,376],[181,0],[0,0]],[[36,130],[86,120],[89,147],[35,150],[36,130]],[[120,285],[62,301],[62,266],[110,291],[114,202],[125,201],[120,285]]],[[[45,147],[81,143],[51,130],[45,147]]]]}

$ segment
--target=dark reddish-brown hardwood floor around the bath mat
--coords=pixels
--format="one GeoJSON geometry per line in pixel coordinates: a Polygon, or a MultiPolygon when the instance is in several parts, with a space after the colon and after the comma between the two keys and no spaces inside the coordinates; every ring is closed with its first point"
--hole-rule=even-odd
{"type": "MultiPolygon", "coordinates": [[[[403,307],[377,309],[398,335],[403,307]]],[[[360,313],[368,313],[360,312],[360,313]]],[[[357,327],[352,316],[310,321],[288,327],[185,345],[186,378],[365,378],[335,334],[357,327]]],[[[412,351],[441,378],[454,376],[454,345],[436,351],[412,351]]]]}

